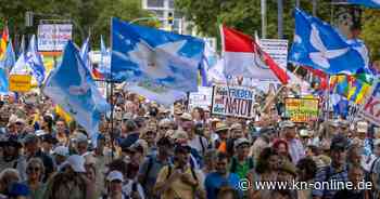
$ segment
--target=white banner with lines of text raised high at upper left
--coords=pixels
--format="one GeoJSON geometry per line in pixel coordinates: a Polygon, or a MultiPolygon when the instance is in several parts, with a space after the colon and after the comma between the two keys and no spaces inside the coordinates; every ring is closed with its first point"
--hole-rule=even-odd
{"type": "Polygon", "coordinates": [[[63,51],[72,34],[72,24],[38,25],[38,51],[63,51]]]}

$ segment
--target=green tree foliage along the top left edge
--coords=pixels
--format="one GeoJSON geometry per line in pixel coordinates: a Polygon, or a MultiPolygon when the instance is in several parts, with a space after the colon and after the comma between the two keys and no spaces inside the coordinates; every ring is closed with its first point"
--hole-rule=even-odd
{"type": "MultiPolygon", "coordinates": [[[[71,19],[74,41],[81,44],[90,34],[92,48],[99,47],[101,35],[109,43],[111,17],[132,21],[150,16],[141,9],[141,0],[0,0],[0,21],[8,22],[13,37],[36,34],[39,19],[71,19]],[[25,27],[26,11],[38,13],[31,28],[25,27]]],[[[141,24],[156,25],[152,22],[141,24]]]]}

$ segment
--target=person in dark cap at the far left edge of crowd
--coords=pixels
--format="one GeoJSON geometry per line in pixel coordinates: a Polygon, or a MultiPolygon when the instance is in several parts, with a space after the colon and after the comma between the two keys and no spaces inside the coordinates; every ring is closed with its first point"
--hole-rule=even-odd
{"type": "Polygon", "coordinates": [[[0,142],[0,147],[2,148],[2,157],[0,157],[0,171],[3,171],[7,168],[16,169],[20,173],[22,181],[26,180],[26,159],[24,156],[20,155],[22,148],[21,143],[13,138],[9,137],[5,141],[0,142]]]}

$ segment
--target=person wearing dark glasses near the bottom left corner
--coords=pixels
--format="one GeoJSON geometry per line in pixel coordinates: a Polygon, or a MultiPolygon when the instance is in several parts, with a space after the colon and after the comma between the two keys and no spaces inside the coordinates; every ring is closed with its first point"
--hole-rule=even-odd
{"type": "Polygon", "coordinates": [[[26,167],[26,182],[29,187],[30,198],[42,199],[46,190],[46,185],[42,183],[45,174],[43,162],[39,158],[31,158],[26,167]]]}

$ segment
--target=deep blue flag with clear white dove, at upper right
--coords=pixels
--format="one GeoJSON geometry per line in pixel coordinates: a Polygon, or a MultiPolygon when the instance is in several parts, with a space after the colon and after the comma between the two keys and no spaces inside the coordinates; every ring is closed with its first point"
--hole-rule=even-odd
{"type": "Polygon", "coordinates": [[[294,42],[289,61],[320,69],[329,75],[355,74],[367,67],[364,53],[333,27],[296,9],[294,42]]]}

